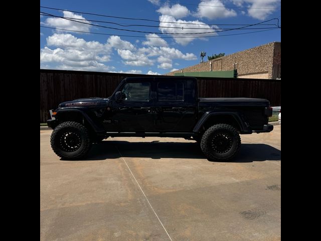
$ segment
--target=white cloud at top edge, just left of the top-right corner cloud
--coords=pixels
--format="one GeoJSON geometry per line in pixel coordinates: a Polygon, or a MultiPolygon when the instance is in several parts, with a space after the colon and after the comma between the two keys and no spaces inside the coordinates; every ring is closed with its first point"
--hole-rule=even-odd
{"type": "Polygon", "coordinates": [[[236,12],[225,8],[221,0],[202,0],[197,8],[195,16],[199,18],[218,19],[235,17],[236,12]],[[205,6],[206,5],[206,6],[205,6]],[[209,7],[216,6],[216,7],[209,7]]]}

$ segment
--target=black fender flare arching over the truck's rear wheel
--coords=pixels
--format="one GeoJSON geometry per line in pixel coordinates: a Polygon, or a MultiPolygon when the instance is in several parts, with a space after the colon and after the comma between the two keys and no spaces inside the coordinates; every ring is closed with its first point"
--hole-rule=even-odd
{"type": "Polygon", "coordinates": [[[209,117],[215,116],[215,115],[230,115],[232,116],[236,123],[240,127],[240,131],[242,134],[246,133],[252,133],[246,126],[245,122],[242,121],[242,118],[238,112],[230,112],[230,111],[225,111],[225,112],[216,112],[216,111],[207,111],[203,114],[203,116],[199,119],[197,124],[195,125],[193,132],[199,133],[201,128],[203,127],[204,123],[208,120],[209,117]]]}

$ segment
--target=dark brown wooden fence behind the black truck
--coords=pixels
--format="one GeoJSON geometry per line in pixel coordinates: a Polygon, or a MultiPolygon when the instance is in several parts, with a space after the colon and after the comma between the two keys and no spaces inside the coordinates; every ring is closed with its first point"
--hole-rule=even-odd
{"type": "MultiPolygon", "coordinates": [[[[40,70],[40,123],[49,110],[64,101],[84,97],[108,97],[126,77],[143,74],[103,73],[70,70],[40,70]]],[[[281,105],[281,80],[196,77],[200,97],[265,98],[271,106],[281,105]]]]}

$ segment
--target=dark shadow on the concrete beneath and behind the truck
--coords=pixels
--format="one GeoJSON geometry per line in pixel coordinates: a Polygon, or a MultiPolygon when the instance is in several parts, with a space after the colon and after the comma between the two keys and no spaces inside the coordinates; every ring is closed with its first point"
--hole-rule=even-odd
{"type": "MultiPolygon", "coordinates": [[[[196,143],[103,141],[93,145],[88,155],[77,161],[116,159],[121,156],[152,159],[206,159],[196,143]]],[[[266,144],[242,144],[238,154],[230,162],[244,163],[267,160],[280,161],[281,151],[266,144]]]]}

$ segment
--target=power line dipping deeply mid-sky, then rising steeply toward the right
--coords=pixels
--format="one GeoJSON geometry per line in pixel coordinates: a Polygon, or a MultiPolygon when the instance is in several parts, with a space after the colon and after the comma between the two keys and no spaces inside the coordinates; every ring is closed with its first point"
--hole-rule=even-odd
{"type": "MultiPolygon", "coordinates": [[[[61,19],[65,19],[65,20],[68,20],[68,21],[72,21],[72,22],[76,22],[76,23],[81,23],[81,24],[86,24],[86,25],[90,25],[90,26],[96,26],[96,27],[100,27],[100,28],[113,29],[113,30],[119,30],[119,31],[136,32],[136,33],[165,34],[165,35],[213,34],[213,33],[226,32],[226,31],[231,31],[231,30],[245,29],[246,27],[259,25],[259,24],[266,23],[266,22],[269,22],[269,21],[273,20],[273,19],[271,19],[271,20],[263,21],[263,22],[260,22],[260,23],[257,23],[257,24],[251,24],[251,25],[248,25],[248,26],[240,27],[240,28],[234,28],[234,29],[228,29],[228,30],[222,30],[222,31],[211,31],[211,32],[202,32],[202,33],[162,33],[162,32],[148,32],[148,31],[129,30],[129,29],[118,29],[118,28],[112,28],[112,27],[97,25],[97,24],[84,23],[84,22],[81,22],[81,21],[72,20],[72,19],[67,19],[67,18],[65,18],[65,17],[56,16],[56,15],[52,15],[52,14],[48,14],[48,13],[44,13],[44,12],[40,12],[40,13],[42,13],[42,14],[47,14],[47,15],[52,16],[52,17],[61,18],[61,19]]],[[[82,20],[82,21],[84,21],[84,20],[82,20]]],[[[159,28],[162,28],[162,26],[159,26],[159,28]]],[[[275,28],[256,28],[256,29],[275,29],[275,28]]]]}

